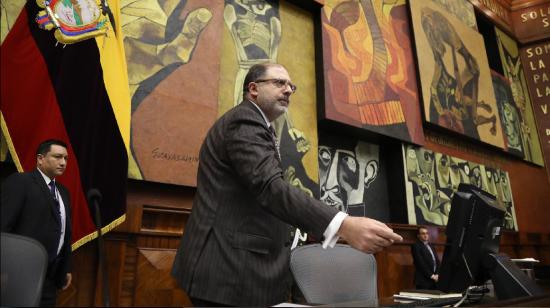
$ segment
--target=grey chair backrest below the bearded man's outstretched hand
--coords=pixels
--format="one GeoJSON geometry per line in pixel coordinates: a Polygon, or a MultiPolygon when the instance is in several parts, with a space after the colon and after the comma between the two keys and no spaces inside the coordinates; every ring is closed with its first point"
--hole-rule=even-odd
{"type": "Polygon", "coordinates": [[[378,299],[376,259],[349,245],[297,247],[291,253],[290,269],[308,303],[373,300],[375,305],[378,299]]]}

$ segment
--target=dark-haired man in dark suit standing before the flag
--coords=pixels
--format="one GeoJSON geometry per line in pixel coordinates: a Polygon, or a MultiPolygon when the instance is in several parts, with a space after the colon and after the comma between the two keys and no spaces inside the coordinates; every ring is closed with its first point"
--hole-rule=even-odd
{"type": "Polygon", "coordinates": [[[2,183],[2,232],[34,238],[48,252],[40,306],[55,306],[57,289],[65,290],[72,279],[69,192],[55,181],[66,166],[67,145],[46,140],[36,151],[36,169],[2,183]]]}

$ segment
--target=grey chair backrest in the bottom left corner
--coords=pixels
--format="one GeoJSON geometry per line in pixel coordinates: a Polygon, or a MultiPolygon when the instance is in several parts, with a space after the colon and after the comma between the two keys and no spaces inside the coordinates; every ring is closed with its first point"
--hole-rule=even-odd
{"type": "Polygon", "coordinates": [[[39,306],[48,264],[46,249],[32,238],[4,232],[1,246],[1,305],[39,306]]]}

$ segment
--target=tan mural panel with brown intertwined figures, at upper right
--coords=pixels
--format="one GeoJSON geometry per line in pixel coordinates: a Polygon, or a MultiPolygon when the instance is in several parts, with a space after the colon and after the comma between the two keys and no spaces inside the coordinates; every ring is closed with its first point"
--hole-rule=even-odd
{"type": "Polygon", "coordinates": [[[429,0],[411,0],[428,122],[504,148],[483,37],[429,0]]]}

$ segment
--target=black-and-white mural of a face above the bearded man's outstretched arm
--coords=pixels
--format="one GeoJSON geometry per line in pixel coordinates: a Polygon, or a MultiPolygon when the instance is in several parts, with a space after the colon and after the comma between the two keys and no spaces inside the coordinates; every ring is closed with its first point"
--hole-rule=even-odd
{"type": "Polygon", "coordinates": [[[389,222],[385,166],[378,145],[341,137],[319,140],[320,199],[352,216],[389,222]]]}

